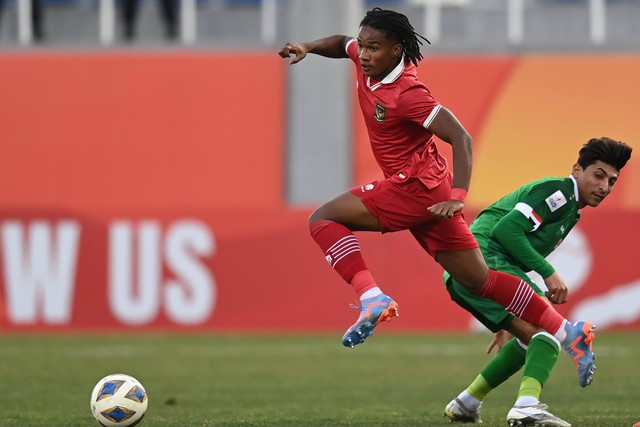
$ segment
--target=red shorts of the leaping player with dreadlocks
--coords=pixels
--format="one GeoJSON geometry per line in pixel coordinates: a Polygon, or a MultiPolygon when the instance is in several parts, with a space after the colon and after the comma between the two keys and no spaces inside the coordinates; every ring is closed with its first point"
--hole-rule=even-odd
{"type": "Polygon", "coordinates": [[[425,251],[435,258],[437,251],[474,249],[478,242],[462,212],[438,220],[427,210],[451,197],[451,174],[435,188],[427,188],[418,178],[391,178],[349,190],[380,221],[383,233],[410,230],[425,251]]]}

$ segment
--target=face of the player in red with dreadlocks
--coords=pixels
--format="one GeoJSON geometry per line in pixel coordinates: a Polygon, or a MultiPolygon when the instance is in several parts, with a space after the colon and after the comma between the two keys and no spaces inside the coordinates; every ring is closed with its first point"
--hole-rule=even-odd
{"type": "Polygon", "coordinates": [[[360,27],[358,57],[364,74],[380,81],[398,65],[402,58],[402,45],[387,39],[381,31],[360,27]]]}

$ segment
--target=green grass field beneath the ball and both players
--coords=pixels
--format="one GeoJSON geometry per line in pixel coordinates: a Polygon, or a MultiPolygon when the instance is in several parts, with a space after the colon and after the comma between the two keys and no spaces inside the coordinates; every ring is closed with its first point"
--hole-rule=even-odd
{"type": "MultiPolygon", "coordinates": [[[[332,335],[0,336],[0,426],[97,426],[89,396],[104,375],[137,377],[152,426],[444,426],[444,406],[490,356],[488,335],[380,331],[353,350],[332,335]]],[[[566,356],[543,401],[581,427],[640,421],[640,332],[600,333],[586,389],[566,356]]],[[[506,425],[518,378],[485,400],[506,425]]]]}

